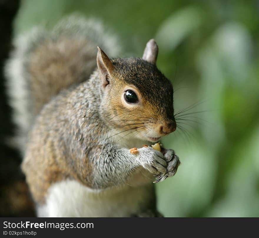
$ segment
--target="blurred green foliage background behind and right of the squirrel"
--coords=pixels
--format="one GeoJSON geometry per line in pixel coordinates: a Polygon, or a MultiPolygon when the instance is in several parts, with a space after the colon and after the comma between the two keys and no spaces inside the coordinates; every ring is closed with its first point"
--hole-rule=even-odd
{"type": "Polygon", "coordinates": [[[175,111],[194,106],[182,113],[184,130],[162,141],[182,165],[156,185],[159,210],[259,216],[259,2],[24,0],[14,34],[75,11],[115,32],[122,56],[141,57],[154,38],[175,111]]]}

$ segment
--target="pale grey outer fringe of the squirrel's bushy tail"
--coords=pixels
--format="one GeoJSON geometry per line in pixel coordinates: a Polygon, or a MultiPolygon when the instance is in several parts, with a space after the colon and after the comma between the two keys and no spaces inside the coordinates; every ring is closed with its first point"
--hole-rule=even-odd
{"type": "Polygon", "coordinates": [[[82,55],[92,55],[92,59],[88,60],[88,66],[85,65],[87,67],[84,69],[88,75],[84,75],[84,78],[77,81],[82,82],[96,67],[97,45],[114,56],[121,51],[117,37],[104,32],[106,31],[103,24],[97,19],[85,19],[73,14],[61,20],[50,32],[44,27],[34,27],[14,39],[14,51],[11,52],[10,59],[6,62],[4,73],[8,79],[6,88],[9,104],[13,108],[13,120],[17,126],[16,137],[11,140],[11,145],[17,147],[22,154],[24,154],[26,136],[39,112],[34,110],[35,98],[31,89],[33,79],[28,72],[28,65],[31,63],[34,50],[44,41],[58,42],[61,37],[73,38],[76,41],[91,40],[91,45],[81,48],[82,55]]]}

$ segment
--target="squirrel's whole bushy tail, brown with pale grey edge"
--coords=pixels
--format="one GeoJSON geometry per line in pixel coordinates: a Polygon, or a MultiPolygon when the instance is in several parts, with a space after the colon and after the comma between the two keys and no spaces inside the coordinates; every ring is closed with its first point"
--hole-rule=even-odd
{"type": "Polygon", "coordinates": [[[60,90],[89,78],[96,67],[97,46],[119,52],[116,37],[100,22],[69,16],[51,31],[35,27],[14,40],[5,66],[7,93],[17,125],[13,141],[21,152],[35,116],[60,90]]]}

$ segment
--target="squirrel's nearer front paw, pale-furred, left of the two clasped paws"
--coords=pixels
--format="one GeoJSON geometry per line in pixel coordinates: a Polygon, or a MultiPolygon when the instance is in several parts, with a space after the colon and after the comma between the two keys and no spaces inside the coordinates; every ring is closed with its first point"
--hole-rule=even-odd
{"type": "Polygon", "coordinates": [[[153,174],[165,174],[167,162],[165,156],[151,146],[138,149],[138,162],[140,165],[153,174]]]}

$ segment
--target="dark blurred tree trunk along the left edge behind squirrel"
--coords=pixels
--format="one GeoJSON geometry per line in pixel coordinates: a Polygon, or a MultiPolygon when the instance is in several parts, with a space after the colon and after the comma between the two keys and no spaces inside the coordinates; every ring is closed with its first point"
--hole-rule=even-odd
{"type": "Polygon", "coordinates": [[[24,175],[21,157],[8,147],[5,138],[13,134],[11,109],[7,104],[3,66],[11,50],[13,20],[19,0],[0,0],[0,216],[35,216],[24,175]]]}

